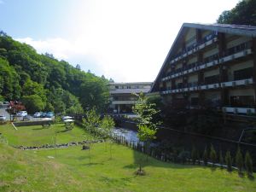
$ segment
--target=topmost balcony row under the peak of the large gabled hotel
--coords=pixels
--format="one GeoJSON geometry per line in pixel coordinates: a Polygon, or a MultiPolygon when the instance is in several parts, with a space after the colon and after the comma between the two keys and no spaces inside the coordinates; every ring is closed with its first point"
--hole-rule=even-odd
{"type": "Polygon", "coordinates": [[[207,35],[205,38],[202,38],[201,41],[199,41],[195,44],[189,45],[188,47],[183,49],[183,51],[181,51],[180,53],[175,55],[174,59],[172,59],[172,61],[170,61],[170,63],[172,64],[176,61],[179,61],[179,60],[183,59],[183,57],[194,54],[195,51],[204,49],[208,45],[213,44],[214,42],[216,42],[218,40],[217,35],[218,35],[217,32],[212,32],[209,35],[207,35]]]}

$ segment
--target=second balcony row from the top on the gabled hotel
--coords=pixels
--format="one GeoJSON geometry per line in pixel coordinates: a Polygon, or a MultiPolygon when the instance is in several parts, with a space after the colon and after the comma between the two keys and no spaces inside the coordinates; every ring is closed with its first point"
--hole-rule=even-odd
{"type": "Polygon", "coordinates": [[[211,57],[211,60],[209,59],[209,57],[207,57],[205,59],[205,62],[203,62],[203,63],[196,61],[194,63],[189,64],[187,67],[179,68],[175,71],[167,73],[167,76],[161,80],[166,81],[169,79],[174,79],[174,78],[177,78],[184,74],[194,73],[201,69],[205,69],[207,67],[217,66],[224,62],[232,61],[237,58],[252,54],[251,42],[239,44],[236,47],[240,47],[242,49],[233,49],[234,47],[232,47],[232,48],[228,49],[228,51],[226,51],[224,57],[221,57],[221,58],[219,58],[218,55],[216,55],[216,54],[211,55],[211,56],[209,56],[209,57],[211,57]],[[232,49],[232,51],[230,51],[231,49],[232,49]],[[230,55],[227,55],[227,54],[230,54],[230,55]]]}

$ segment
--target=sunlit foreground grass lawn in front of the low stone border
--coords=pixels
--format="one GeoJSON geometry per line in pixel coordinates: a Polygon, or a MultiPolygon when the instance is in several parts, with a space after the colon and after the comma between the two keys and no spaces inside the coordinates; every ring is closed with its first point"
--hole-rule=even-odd
{"type": "Polygon", "coordinates": [[[59,148],[55,157],[54,149],[22,151],[2,144],[0,191],[256,191],[256,182],[237,172],[152,158],[143,163],[147,174],[136,176],[137,161],[145,156],[113,144],[110,160],[108,148],[94,144],[89,161],[81,146],[59,148]]]}

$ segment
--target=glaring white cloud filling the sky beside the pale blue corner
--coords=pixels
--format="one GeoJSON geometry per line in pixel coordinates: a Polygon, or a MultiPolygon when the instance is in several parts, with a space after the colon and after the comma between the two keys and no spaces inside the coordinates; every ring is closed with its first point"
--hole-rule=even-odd
{"type": "MultiPolygon", "coordinates": [[[[93,58],[96,66],[90,70],[115,81],[154,81],[183,22],[215,22],[237,2],[79,1],[65,18],[67,38],[17,40],[71,63],[83,56],[93,58]]],[[[79,64],[88,69],[87,63],[79,64]]]]}

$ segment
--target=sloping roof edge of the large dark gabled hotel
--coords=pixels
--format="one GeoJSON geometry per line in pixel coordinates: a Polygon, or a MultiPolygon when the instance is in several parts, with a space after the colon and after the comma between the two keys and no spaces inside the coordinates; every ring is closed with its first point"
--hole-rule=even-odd
{"type": "Polygon", "coordinates": [[[234,35],[241,35],[241,36],[247,36],[256,38],[256,26],[242,26],[242,25],[230,25],[230,24],[199,24],[199,23],[183,23],[181,26],[179,32],[177,33],[177,37],[175,38],[171,49],[169,50],[166,59],[164,63],[162,64],[162,67],[160,68],[160,72],[158,73],[156,79],[154,80],[154,83],[150,89],[150,92],[154,89],[154,85],[157,79],[160,77],[160,73],[166,66],[167,60],[170,55],[172,55],[173,50],[176,48],[177,44],[180,43],[180,41],[183,38],[183,34],[189,30],[189,28],[195,28],[195,29],[202,29],[202,30],[209,30],[209,31],[215,31],[215,32],[224,32],[224,33],[230,33],[234,35]]]}

